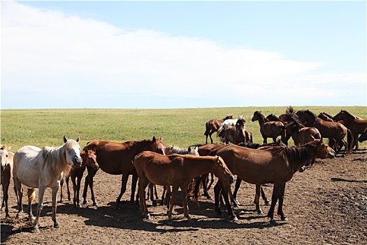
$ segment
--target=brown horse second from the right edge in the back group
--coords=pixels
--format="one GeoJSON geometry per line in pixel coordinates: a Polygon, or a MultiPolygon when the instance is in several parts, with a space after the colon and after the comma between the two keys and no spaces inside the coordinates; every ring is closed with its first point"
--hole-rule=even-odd
{"type": "Polygon", "coordinates": [[[305,121],[310,127],[316,127],[322,137],[329,138],[330,141],[336,143],[334,147],[334,151],[336,151],[336,153],[339,153],[340,149],[344,146],[345,149],[347,149],[347,153],[352,154],[352,132],[343,124],[324,121],[309,110],[297,111],[296,115],[301,122],[305,121]],[[347,142],[344,140],[345,135],[347,135],[347,142]]]}

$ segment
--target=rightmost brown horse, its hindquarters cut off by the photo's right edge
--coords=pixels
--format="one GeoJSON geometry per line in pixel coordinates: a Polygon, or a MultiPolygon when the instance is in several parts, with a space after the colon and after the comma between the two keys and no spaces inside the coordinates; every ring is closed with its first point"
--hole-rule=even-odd
{"type": "Polygon", "coordinates": [[[353,116],[347,111],[341,110],[340,113],[333,117],[333,120],[343,120],[343,125],[347,127],[353,134],[354,139],[354,150],[358,149],[358,135],[363,134],[367,129],[367,119],[360,119],[353,116]]]}

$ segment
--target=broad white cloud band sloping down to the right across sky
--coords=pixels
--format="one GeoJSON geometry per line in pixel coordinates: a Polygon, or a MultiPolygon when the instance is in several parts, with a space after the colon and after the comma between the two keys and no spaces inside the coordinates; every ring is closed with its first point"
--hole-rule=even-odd
{"type": "MultiPolygon", "coordinates": [[[[335,80],[327,74],[299,76],[324,64],[287,60],[277,52],[226,48],[153,30],[124,31],[14,2],[3,2],[1,12],[5,90],[24,87],[27,92],[62,94],[87,87],[91,96],[120,92],[163,97],[179,91],[178,97],[203,97],[207,91],[219,97],[225,87],[229,96],[246,92],[256,99],[249,88],[268,90],[272,97],[289,84],[308,90],[305,84],[315,81],[317,87],[335,80]]],[[[343,76],[341,80],[351,78],[343,76]]],[[[366,80],[365,74],[352,76],[357,83],[366,80]]]]}

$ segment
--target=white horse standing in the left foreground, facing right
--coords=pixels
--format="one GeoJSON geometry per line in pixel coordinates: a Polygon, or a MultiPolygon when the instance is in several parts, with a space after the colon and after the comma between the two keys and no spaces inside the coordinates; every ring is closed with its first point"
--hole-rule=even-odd
{"type": "Polygon", "coordinates": [[[34,219],[31,211],[31,202],[36,198],[38,188],[37,216],[31,232],[38,232],[38,218],[43,208],[43,195],[46,188],[52,189],[52,221],[54,228],[59,228],[56,219],[56,198],[63,175],[69,174],[73,166],[80,167],[79,137],[76,140],[64,136],[64,145],[59,147],[45,146],[42,149],[36,146],[23,146],[14,155],[14,190],[17,196],[17,218],[22,218],[22,184],[28,187],[28,216],[34,219]]]}

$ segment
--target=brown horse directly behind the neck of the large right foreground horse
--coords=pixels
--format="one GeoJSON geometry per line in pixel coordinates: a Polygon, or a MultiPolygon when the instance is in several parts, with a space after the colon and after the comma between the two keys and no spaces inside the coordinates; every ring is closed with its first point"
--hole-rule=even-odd
{"type": "Polygon", "coordinates": [[[282,141],[286,145],[290,137],[292,137],[295,146],[306,144],[315,139],[321,139],[321,134],[316,127],[305,127],[295,114],[284,114],[282,115],[282,120],[287,122],[285,124],[287,134],[282,141]]]}

